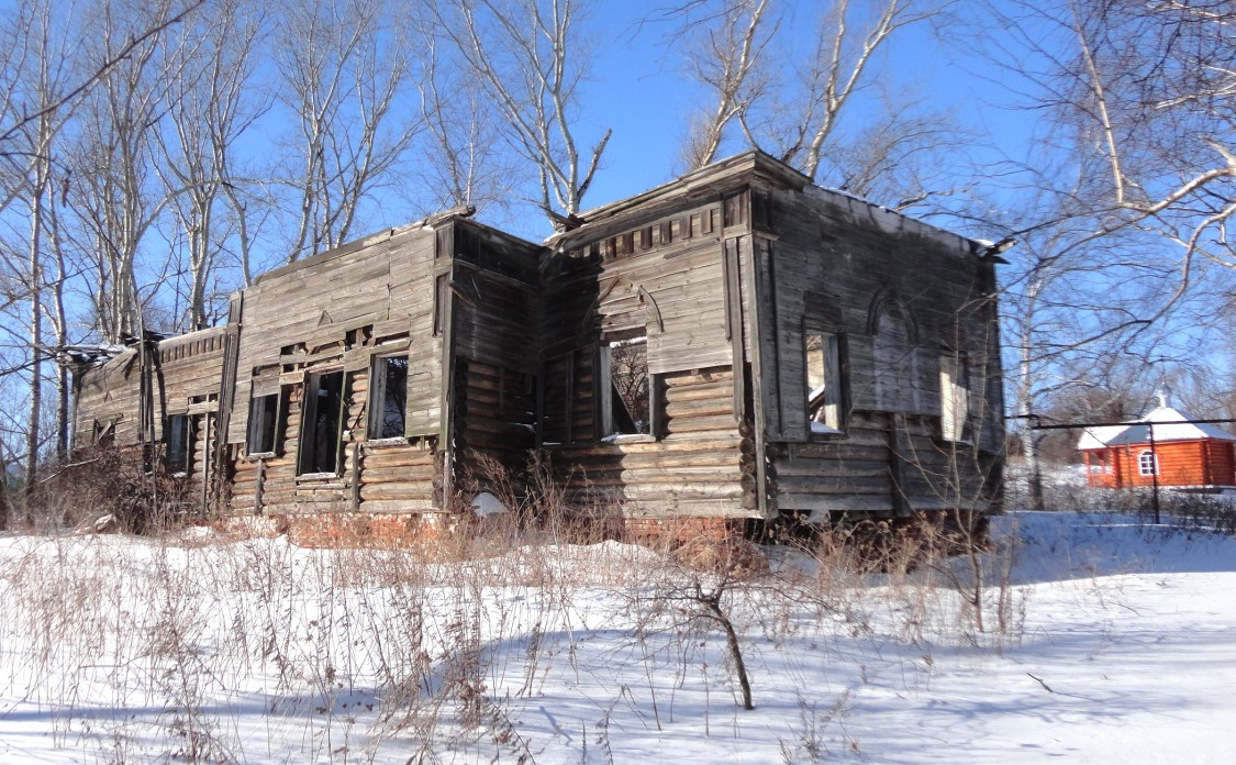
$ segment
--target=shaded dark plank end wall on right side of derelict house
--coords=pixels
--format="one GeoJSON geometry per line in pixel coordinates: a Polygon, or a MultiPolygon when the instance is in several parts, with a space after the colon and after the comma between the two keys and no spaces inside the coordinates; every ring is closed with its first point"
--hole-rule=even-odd
{"type": "Polygon", "coordinates": [[[760,188],[754,200],[748,252],[775,508],[817,522],[988,508],[1004,437],[991,266],[968,240],[842,194],[760,188]],[[811,431],[810,331],[843,337],[843,435],[811,431]],[[941,430],[944,355],[969,370],[967,442],[941,430]]]}

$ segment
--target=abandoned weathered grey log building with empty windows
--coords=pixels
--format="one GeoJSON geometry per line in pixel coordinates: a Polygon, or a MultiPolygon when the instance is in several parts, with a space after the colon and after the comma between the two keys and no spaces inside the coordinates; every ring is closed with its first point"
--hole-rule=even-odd
{"type": "Polygon", "coordinates": [[[366,528],[536,450],[637,529],[999,507],[997,248],[759,152],[571,225],[456,210],[269,272],[82,370],[77,444],[154,449],[203,512],[366,528]]]}

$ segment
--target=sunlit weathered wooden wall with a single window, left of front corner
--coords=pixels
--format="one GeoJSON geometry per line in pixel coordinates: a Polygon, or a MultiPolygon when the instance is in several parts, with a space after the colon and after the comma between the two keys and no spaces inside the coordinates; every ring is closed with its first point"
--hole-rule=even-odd
{"type": "Polygon", "coordinates": [[[548,263],[540,437],[577,505],[627,517],[755,514],[723,221],[716,192],[653,204],[572,232],[548,263]],[[598,347],[632,336],[648,339],[655,433],[607,439],[598,347]]]}

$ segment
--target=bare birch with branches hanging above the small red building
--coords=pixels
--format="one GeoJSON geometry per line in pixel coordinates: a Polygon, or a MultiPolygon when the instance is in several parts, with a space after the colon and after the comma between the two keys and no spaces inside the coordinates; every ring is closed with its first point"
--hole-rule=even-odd
{"type": "Polygon", "coordinates": [[[1224,292],[1211,284],[1236,266],[1236,10],[1073,0],[991,14],[991,61],[1047,117],[1012,168],[1026,210],[1005,297],[1016,410],[1077,412],[1205,355],[1221,314],[1210,293],[1224,292]]]}

